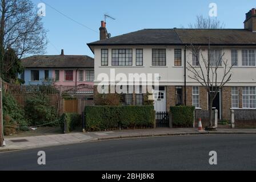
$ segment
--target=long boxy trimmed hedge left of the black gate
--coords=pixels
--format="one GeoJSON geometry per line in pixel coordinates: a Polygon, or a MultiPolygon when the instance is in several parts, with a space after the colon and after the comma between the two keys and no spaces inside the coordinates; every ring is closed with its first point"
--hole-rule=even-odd
{"type": "Polygon", "coordinates": [[[154,106],[86,106],[87,131],[152,128],[154,106]]]}

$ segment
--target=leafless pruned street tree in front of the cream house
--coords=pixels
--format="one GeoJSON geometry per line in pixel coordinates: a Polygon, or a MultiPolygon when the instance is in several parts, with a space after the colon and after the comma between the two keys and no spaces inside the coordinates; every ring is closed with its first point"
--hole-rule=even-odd
{"type": "Polygon", "coordinates": [[[200,51],[200,47],[194,47],[191,44],[191,49],[194,64],[191,61],[187,62],[189,65],[187,70],[190,73],[188,77],[202,85],[209,94],[209,126],[212,127],[213,101],[223,86],[231,80],[233,65],[229,65],[228,60],[223,59],[225,53],[221,53],[221,51],[217,54],[211,53],[210,43],[207,48],[207,57],[200,51]]]}

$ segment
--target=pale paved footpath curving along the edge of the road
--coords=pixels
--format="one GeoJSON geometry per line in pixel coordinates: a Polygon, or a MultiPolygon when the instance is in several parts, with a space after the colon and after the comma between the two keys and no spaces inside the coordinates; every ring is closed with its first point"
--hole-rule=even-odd
{"type": "Polygon", "coordinates": [[[93,142],[100,140],[163,137],[175,135],[213,135],[213,134],[255,134],[256,129],[218,129],[211,132],[198,132],[197,129],[145,129],[145,130],[118,130],[93,133],[70,133],[41,135],[34,137],[7,137],[6,147],[0,147],[0,152],[28,150],[47,146],[59,146],[74,143],[93,142]]]}

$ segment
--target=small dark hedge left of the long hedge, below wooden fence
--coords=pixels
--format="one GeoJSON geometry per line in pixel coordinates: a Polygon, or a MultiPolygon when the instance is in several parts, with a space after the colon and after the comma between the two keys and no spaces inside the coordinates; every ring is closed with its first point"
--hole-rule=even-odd
{"type": "Polygon", "coordinates": [[[61,130],[64,133],[70,133],[79,126],[82,126],[81,115],[77,113],[65,113],[61,116],[61,130]]]}

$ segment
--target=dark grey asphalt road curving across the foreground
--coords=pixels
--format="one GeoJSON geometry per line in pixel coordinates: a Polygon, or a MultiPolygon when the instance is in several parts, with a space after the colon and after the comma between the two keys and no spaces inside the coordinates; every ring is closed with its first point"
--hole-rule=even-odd
{"type": "Polygon", "coordinates": [[[0,154],[0,170],[256,170],[256,135],[157,137],[0,154]],[[46,165],[37,164],[38,151],[46,165]],[[218,164],[209,164],[216,151],[218,164]]]}

